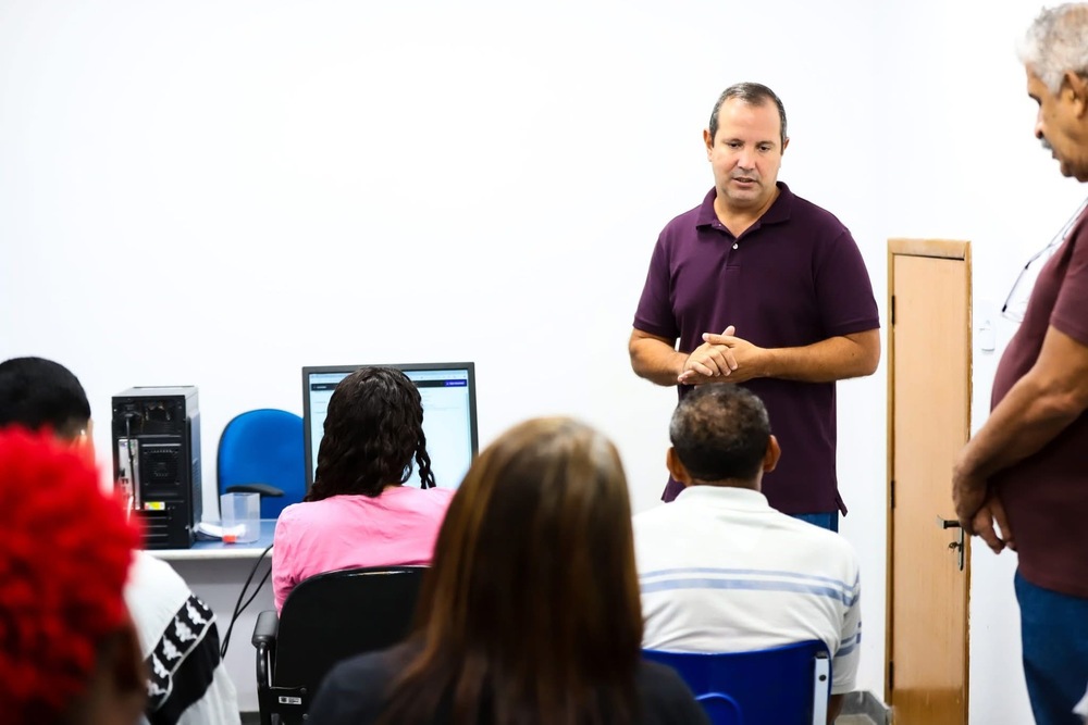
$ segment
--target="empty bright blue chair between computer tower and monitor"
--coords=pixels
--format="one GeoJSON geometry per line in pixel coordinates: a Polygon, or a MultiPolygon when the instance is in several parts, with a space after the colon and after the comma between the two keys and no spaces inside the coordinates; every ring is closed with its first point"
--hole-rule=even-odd
{"type": "Polygon", "coordinates": [[[236,415],[219,438],[219,492],[261,495],[261,518],[277,518],[306,496],[302,418],[262,408],[236,415]]]}

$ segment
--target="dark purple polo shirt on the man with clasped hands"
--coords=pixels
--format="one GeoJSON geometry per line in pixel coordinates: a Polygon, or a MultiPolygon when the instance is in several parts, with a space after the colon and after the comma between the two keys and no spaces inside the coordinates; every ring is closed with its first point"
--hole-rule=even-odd
{"type": "MultiPolygon", "coordinates": [[[[690,352],[703,333],[735,325],[764,348],[812,345],[880,326],[873,287],[850,230],[829,212],[778,183],[779,196],[739,238],[718,221],[714,189],[677,216],[654,248],[634,315],[644,333],[679,339],[690,352]]],[[[783,513],[845,512],[836,477],[833,383],[757,378],[782,447],[764,477],[770,504],[783,513]]],[[[683,396],[689,386],[679,386],[683,396]]],[[[666,501],[681,485],[669,480],[666,501]]]]}

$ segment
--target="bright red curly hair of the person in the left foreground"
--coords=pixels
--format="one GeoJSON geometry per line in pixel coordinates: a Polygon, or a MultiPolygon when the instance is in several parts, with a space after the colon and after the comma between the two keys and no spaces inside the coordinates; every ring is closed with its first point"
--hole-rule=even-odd
{"type": "Polygon", "coordinates": [[[55,720],[125,626],[138,530],[94,465],[48,434],[0,432],[0,702],[7,723],[55,720]]]}

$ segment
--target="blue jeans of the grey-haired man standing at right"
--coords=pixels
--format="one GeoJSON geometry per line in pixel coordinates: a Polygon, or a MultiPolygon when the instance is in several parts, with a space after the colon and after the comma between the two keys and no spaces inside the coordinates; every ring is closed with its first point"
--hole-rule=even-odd
{"type": "Polygon", "coordinates": [[[1037,587],[1016,572],[1024,678],[1036,725],[1080,725],[1088,686],[1088,599],[1037,587]]]}

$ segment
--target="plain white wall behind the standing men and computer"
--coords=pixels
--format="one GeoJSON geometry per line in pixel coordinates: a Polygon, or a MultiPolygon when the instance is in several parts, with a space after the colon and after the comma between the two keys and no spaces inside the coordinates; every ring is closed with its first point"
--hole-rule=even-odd
{"type": "MultiPolygon", "coordinates": [[[[482,443],[578,415],[648,508],[675,393],[626,341],[658,230],[710,186],[718,92],[782,96],[781,178],[851,227],[881,316],[891,236],[972,239],[993,300],[1079,193],[1029,135],[1036,4],[1005,4],[0,0],[0,359],[72,367],[102,451],[112,395],[199,386],[209,509],[223,425],[300,412],[302,365],[474,360],[482,443]]],[[[839,402],[878,696],[885,390],[881,365],[839,402]]],[[[1011,557],[973,565],[975,721],[1023,685],[1011,557]]]]}

